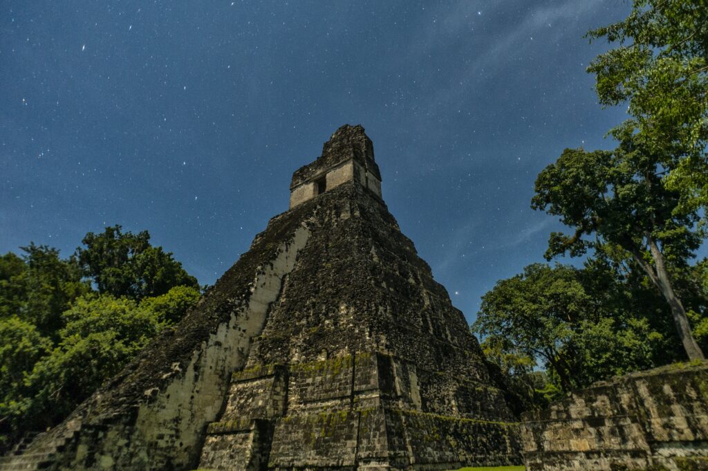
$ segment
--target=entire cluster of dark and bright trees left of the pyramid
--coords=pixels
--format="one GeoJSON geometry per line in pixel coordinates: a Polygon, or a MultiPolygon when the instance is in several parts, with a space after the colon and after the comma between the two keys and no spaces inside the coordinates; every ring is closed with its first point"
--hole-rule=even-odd
{"type": "Polygon", "coordinates": [[[76,254],[0,256],[0,449],[57,424],[200,297],[149,234],[89,233],[76,254]]]}

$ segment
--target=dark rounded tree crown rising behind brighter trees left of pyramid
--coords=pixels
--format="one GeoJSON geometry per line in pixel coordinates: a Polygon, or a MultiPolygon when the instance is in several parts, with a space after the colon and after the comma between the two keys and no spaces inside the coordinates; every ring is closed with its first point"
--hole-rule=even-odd
{"type": "Polygon", "coordinates": [[[120,225],[106,227],[103,234],[86,234],[82,241],[86,247],[76,249],[76,260],[99,293],[139,300],[164,295],[174,286],[199,288],[171,252],[149,240],[147,231],[124,234],[120,225]]]}

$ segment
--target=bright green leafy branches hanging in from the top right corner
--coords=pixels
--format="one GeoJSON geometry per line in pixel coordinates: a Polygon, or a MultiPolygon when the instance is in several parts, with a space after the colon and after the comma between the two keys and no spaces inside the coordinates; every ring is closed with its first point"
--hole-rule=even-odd
{"type": "Polygon", "coordinates": [[[617,44],[588,67],[600,103],[632,115],[612,133],[663,156],[682,209],[708,205],[707,18],[703,1],[634,0],[627,18],[588,33],[617,44]]]}

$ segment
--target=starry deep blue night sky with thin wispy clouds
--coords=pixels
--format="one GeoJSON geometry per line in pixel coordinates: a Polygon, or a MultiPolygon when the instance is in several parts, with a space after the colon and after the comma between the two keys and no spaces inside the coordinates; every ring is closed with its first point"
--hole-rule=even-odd
{"type": "Polygon", "coordinates": [[[148,229],[214,283],[344,123],[472,321],[542,261],[535,176],[610,148],[583,34],[622,0],[0,0],[0,253],[148,229]]]}

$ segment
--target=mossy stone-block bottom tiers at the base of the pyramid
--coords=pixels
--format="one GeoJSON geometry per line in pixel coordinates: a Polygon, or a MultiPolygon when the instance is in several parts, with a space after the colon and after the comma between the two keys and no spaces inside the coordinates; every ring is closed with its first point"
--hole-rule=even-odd
{"type": "Polygon", "coordinates": [[[200,468],[445,470],[518,459],[516,424],[425,413],[420,394],[415,366],[384,353],[234,373],[200,468]]]}

